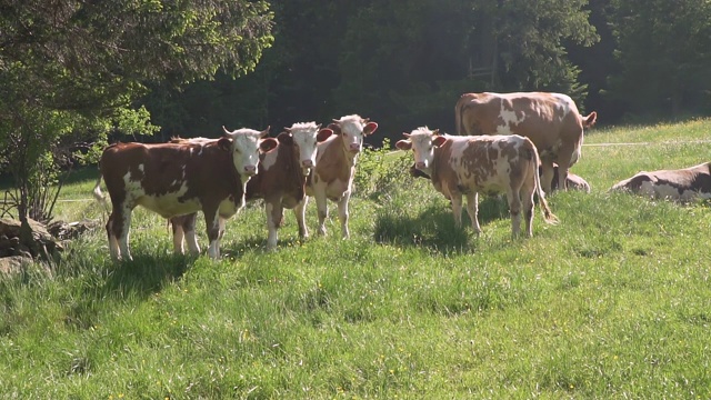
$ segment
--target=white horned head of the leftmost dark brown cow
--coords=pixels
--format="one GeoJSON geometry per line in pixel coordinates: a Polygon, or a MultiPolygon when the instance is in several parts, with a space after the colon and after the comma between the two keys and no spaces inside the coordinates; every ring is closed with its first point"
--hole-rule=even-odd
{"type": "Polygon", "coordinates": [[[242,128],[229,131],[222,127],[224,136],[220,138],[218,146],[232,154],[234,168],[241,177],[252,177],[257,174],[259,163],[259,151],[267,152],[277,147],[278,142],[273,138],[267,138],[269,127],[263,131],[242,128]]]}

